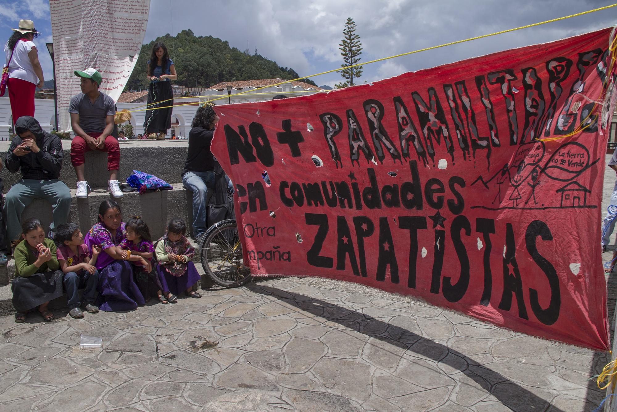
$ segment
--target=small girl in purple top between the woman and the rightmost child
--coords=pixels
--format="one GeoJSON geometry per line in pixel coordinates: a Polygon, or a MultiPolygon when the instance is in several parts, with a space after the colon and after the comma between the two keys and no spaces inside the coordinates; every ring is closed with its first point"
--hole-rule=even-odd
{"type": "MultiPolygon", "coordinates": [[[[125,224],[124,239],[117,246],[118,252],[122,253],[122,258],[126,259],[132,256],[141,256],[147,262],[152,262],[154,255],[154,245],[152,245],[150,230],[141,217],[133,216],[125,224]]],[[[144,300],[149,301],[152,296],[158,296],[160,303],[165,305],[168,300],[163,296],[162,285],[159,282],[159,277],[154,271],[146,271],[141,262],[134,262],[133,273],[135,274],[135,282],[144,296],[144,300]]]]}

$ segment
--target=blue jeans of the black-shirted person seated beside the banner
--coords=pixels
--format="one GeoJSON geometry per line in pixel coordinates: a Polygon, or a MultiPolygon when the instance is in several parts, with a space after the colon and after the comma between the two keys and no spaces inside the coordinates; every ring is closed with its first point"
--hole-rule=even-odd
{"type": "MultiPolygon", "coordinates": [[[[233,193],[233,184],[227,179],[227,190],[233,193]]],[[[184,187],[193,191],[193,235],[197,239],[207,230],[208,196],[214,191],[214,172],[186,172],[182,177],[184,187]]]]}

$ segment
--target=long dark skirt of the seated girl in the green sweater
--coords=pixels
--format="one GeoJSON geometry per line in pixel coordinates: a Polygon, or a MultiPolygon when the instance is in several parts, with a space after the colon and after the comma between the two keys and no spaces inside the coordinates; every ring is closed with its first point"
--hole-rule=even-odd
{"type": "Polygon", "coordinates": [[[13,306],[18,312],[27,312],[43,303],[62,296],[62,271],[35,273],[28,277],[15,276],[10,289],[13,306]]]}

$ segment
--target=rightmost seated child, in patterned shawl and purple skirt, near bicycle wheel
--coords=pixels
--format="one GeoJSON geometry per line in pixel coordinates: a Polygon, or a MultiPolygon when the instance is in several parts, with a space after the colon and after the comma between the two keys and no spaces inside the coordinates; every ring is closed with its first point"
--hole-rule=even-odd
{"type": "Polygon", "coordinates": [[[167,225],[165,235],[157,240],[155,255],[159,261],[156,267],[159,280],[166,294],[186,293],[189,298],[201,298],[201,295],[193,290],[193,285],[201,279],[195,264],[191,261],[195,250],[184,237],[184,233],[186,224],[182,219],[175,217],[167,225]]]}

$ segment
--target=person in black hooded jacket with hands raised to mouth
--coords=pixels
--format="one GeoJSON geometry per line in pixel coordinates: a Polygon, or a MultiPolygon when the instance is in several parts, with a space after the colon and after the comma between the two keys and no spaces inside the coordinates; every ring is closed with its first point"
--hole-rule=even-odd
{"type": "Polygon", "coordinates": [[[9,241],[20,237],[23,209],[35,198],[49,201],[54,208],[50,234],[55,232],[57,225],[67,223],[71,208],[71,192],[58,180],[64,156],[60,138],[43,132],[39,122],[30,116],[17,119],[15,132],[17,136],[10,143],[5,164],[11,173],[21,170],[22,180],[6,194],[4,211],[9,241]]]}

